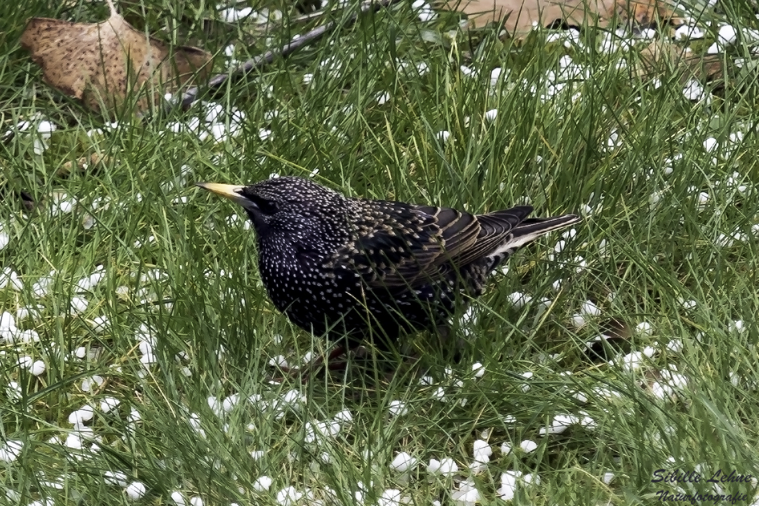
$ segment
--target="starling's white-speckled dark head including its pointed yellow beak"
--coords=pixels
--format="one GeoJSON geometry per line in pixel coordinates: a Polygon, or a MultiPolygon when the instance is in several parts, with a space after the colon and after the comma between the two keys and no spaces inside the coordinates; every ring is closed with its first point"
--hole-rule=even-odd
{"type": "Polygon", "coordinates": [[[323,231],[345,218],[347,199],[310,179],[273,178],[249,186],[197,183],[243,206],[259,236],[323,231]]]}

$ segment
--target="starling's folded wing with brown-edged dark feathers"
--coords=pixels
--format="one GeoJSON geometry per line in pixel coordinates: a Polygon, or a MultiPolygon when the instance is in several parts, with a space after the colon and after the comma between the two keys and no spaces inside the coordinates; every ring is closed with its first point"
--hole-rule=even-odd
{"type": "Polygon", "coordinates": [[[348,257],[370,286],[414,288],[439,278],[442,264],[470,256],[479,234],[467,212],[378,202],[359,222],[348,257]]]}

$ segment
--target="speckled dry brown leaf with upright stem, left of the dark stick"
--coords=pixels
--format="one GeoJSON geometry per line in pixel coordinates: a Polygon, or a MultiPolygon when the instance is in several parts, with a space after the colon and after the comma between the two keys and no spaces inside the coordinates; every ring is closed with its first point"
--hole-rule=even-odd
{"type": "Polygon", "coordinates": [[[99,112],[118,108],[132,91],[141,93],[137,110],[187,81],[205,79],[211,55],[187,46],[168,46],[135,30],[106,0],[110,17],[100,23],[33,17],[21,46],[43,69],[45,82],[99,112]]]}

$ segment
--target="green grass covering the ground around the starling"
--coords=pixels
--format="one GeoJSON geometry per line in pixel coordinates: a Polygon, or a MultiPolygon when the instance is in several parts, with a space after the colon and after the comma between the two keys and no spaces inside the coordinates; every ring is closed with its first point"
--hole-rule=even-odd
{"type": "MultiPolygon", "coordinates": [[[[205,504],[276,504],[288,486],[308,487],[323,504],[332,498],[362,504],[359,491],[364,504],[392,504],[381,500],[386,489],[401,490],[411,504],[454,504],[453,491],[467,477],[481,504],[502,504],[496,490],[507,470],[540,476],[539,486],[518,488],[513,504],[652,504],[657,491],[676,492],[672,484],[651,482],[655,470],[697,470],[704,479],[720,468],[754,474],[755,68],[739,71],[710,100],[691,102],[672,71],[663,69],[656,87],[629,67],[616,69],[621,58],[635,64],[637,49],[613,55],[565,49],[539,34],[513,45],[492,30],[451,38],[446,33],[458,25],[455,16],[420,24],[408,5],[398,5],[230,84],[214,100],[246,120],[237,137],[214,143],[167,127],[204,115],[200,107],[140,120],[124,116],[109,128],[43,84],[17,39],[27,17],[94,21],[106,12],[99,4],[71,5],[68,11],[48,2],[0,8],[0,133],[38,113],[58,125],[41,156],[28,132],[0,140],[0,227],[9,239],[0,260],[23,283],[20,290],[0,289],[0,311],[15,315],[20,307],[41,306],[38,317],[16,322],[37,332],[39,342],[0,341],[0,383],[17,385],[0,389],[0,448],[7,454],[6,441],[23,442],[17,458],[0,460],[8,504],[131,502],[104,479],[106,472],[143,482],[145,504],[172,504],[175,491],[188,504],[194,495],[205,504]],[[573,77],[572,90],[540,99],[546,72],[559,73],[565,54],[588,78],[573,77]],[[338,72],[320,65],[327,58],[338,72]],[[426,73],[417,71],[422,62],[426,73]],[[465,77],[462,64],[477,76],[465,77]],[[503,71],[491,87],[493,68],[503,71]],[[307,73],[313,74],[308,85],[307,73]],[[376,97],[386,92],[389,101],[379,105],[376,97]],[[484,113],[493,108],[498,115],[487,121],[484,113]],[[102,133],[87,135],[96,128],[102,133]],[[266,140],[262,129],[271,130],[266,140]],[[619,146],[609,149],[613,131],[619,146]],[[742,140],[733,143],[736,132],[742,140]],[[713,152],[704,148],[709,137],[717,142],[713,152]],[[61,174],[66,162],[76,165],[91,153],[102,162],[61,174]],[[477,318],[455,325],[467,337],[458,363],[451,350],[420,334],[405,338],[408,350],[422,352],[420,362],[391,380],[383,371],[398,367],[396,354],[377,357],[384,365],[370,363],[348,381],[322,375],[304,385],[270,384],[273,357],[298,363],[325,344],[294,328],[267,300],[253,232],[241,220],[227,222],[241,209],[192,183],[308,176],[315,168],[317,181],[354,196],[471,212],[528,200],[540,215],[583,212],[585,219],[561,253],[551,254],[561,239],[555,234],[515,255],[508,275],[493,277],[474,303],[477,318]],[[739,176],[729,181],[734,172],[739,176]],[[36,200],[32,212],[24,209],[21,190],[36,200]],[[709,194],[701,208],[700,192],[709,194]],[[74,199],[71,212],[52,212],[56,199],[74,199]],[[734,234],[742,235],[725,239],[734,234]],[[77,288],[100,265],[102,281],[77,288]],[[49,290],[38,297],[34,285],[51,271],[49,290]],[[531,302],[515,306],[515,292],[531,302]],[[72,314],[74,297],[88,305],[72,314]],[[546,311],[542,298],[550,300],[546,311]],[[572,318],[586,300],[600,315],[586,316],[576,328],[572,318]],[[686,308],[683,300],[695,305],[686,308]],[[99,317],[107,322],[97,329],[99,317]],[[609,341],[606,360],[620,363],[622,355],[650,347],[650,357],[633,370],[587,353],[585,343],[611,321],[630,332],[609,341]],[[650,332],[635,332],[644,322],[650,332]],[[154,363],[147,366],[140,363],[140,332],[154,340],[154,363]],[[77,358],[77,349],[85,358],[77,358]],[[45,372],[33,376],[17,364],[20,357],[43,360],[45,372]],[[477,362],[485,368],[481,378],[472,370],[477,362]],[[685,384],[666,398],[654,395],[653,382],[666,383],[674,369],[682,375],[674,382],[685,384]],[[531,379],[522,376],[528,372],[531,379]],[[422,374],[433,384],[420,385],[422,374]],[[83,382],[94,376],[102,383],[90,391],[83,382]],[[234,406],[217,416],[212,397],[234,406]],[[106,398],[120,404],[106,412],[106,398]],[[391,416],[392,401],[404,402],[407,413],[391,416]],[[72,432],[68,417],[87,404],[94,407],[86,425],[97,448],[87,438],[83,449],[70,448],[61,443],[72,432]],[[309,427],[342,410],[351,422],[340,424],[334,437],[312,441],[309,427]],[[565,414],[587,418],[560,434],[540,434],[565,414]],[[482,472],[470,473],[478,438],[494,451],[482,472]],[[519,450],[528,439],[537,449],[519,450]],[[504,454],[504,442],[517,449],[504,454]],[[254,459],[251,451],[263,457],[254,459]],[[392,470],[399,451],[418,466],[392,470]],[[458,463],[455,479],[428,477],[430,459],[442,457],[458,463]],[[606,483],[608,472],[614,478],[606,483]],[[260,476],[272,478],[269,491],[255,489],[260,476]]],[[[238,59],[266,49],[259,27],[225,24],[213,7],[176,0],[119,6],[140,29],[214,52],[217,71],[230,43],[238,59]]],[[[757,29],[748,2],[726,2],[723,11],[703,20],[757,29]]],[[[308,27],[286,24],[268,43],[278,46],[308,27]]],[[[709,33],[708,43],[716,28],[709,33]]],[[[581,39],[595,48],[600,35],[589,30],[581,39]]],[[[708,43],[694,48],[705,51],[708,43]]],[[[739,40],[728,59],[749,57],[751,50],[739,40]]],[[[682,488],[713,492],[710,485],[682,488]]],[[[753,483],[723,490],[754,501],[753,483]]]]}

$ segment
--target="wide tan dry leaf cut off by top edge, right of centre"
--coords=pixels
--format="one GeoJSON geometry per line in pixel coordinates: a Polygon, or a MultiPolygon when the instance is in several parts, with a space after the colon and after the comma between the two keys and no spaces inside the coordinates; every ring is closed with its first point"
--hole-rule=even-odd
{"type": "Polygon", "coordinates": [[[483,27],[505,19],[512,37],[526,35],[534,25],[632,23],[651,26],[657,22],[679,24],[664,0],[451,0],[447,7],[468,14],[469,27],[483,27]]]}

